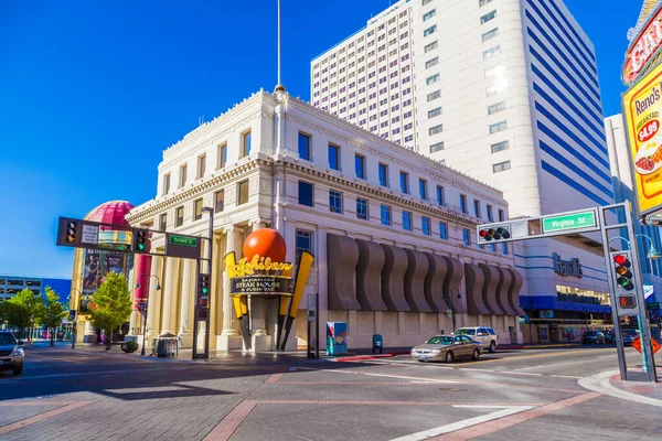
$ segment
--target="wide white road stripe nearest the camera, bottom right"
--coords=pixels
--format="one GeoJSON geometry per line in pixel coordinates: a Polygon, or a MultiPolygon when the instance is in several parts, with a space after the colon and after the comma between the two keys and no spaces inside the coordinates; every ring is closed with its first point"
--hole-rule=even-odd
{"type": "Polygon", "coordinates": [[[587,392],[576,395],[573,398],[567,398],[560,401],[552,402],[545,406],[537,407],[535,409],[525,410],[510,416],[504,416],[496,420],[473,424],[473,427],[463,428],[451,433],[442,434],[440,437],[433,438],[434,441],[466,441],[472,440],[478,437],[494,433],[503,429],[508,429],[512,426],[520,424],[522,422],[543,417],[545,415],[556,412],[558,410],[568,408],[570,406],[578,405],[600,397],[601,394],[587,392]]]}

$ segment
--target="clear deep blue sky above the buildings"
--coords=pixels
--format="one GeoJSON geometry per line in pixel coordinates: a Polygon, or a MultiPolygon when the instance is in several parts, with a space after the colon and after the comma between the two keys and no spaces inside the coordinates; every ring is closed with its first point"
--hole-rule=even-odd
{"type": "MultiPolygon", "coordinates": [[[[289,92],[308,99],[310,60],[388,3],[282,0],[289,92]]],[[[641,3],[566,0],[596,45],[605,115],[641,3]]],[[[57,216],[153,197],[166,148],[274,88],[275,35],[276,0],[0,0],[0,273],[71,277],[57,216]]]]}

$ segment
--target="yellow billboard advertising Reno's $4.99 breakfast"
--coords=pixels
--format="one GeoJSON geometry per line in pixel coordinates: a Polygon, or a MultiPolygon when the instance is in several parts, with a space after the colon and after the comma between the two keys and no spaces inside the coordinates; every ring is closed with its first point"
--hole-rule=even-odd
{"type": "Polygon", "coordinates": [[[623,95],[639,216],[662,207],[662,65],[623,95]]]}

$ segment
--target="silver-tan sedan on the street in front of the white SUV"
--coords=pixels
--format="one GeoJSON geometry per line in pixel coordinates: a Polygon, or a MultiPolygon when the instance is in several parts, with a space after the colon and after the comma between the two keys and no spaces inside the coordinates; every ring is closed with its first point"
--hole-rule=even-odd
{"type": "Polygon", "coordinates": [[[435,335],[412,349],[412,358],[418,362],[452,363],[456,358],[478,359],[481,354],[482,344],[467,335],[435,335]]]}

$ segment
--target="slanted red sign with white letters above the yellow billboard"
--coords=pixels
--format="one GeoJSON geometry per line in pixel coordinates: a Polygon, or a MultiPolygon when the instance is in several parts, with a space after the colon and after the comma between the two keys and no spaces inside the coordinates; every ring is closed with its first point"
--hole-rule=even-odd
{"type": "Polygon", "coordinates": [[[660,47],[662,47],[662,8],[655,11],[626,53],[623,83],[632,84],[660,47]]]}

